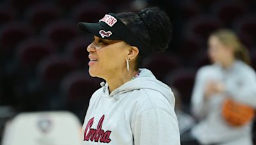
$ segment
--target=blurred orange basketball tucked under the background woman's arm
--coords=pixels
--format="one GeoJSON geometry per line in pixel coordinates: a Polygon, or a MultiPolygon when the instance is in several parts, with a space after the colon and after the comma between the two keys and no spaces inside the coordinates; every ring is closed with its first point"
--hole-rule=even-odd
{"type": "Polygon", "coordinates": [[[232,99],[226,99],[223,102],[222,116],[232,127],[241,127],[252,121],[254,114],[253,107],[235,102],[232,99]]]}

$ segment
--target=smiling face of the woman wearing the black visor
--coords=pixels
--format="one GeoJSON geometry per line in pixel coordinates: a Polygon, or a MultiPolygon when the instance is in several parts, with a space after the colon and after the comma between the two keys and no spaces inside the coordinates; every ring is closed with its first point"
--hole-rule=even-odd
{"type": "Polygon", "coordinates": [[[116,72],[126,68],[125,59],[129,53],[129,45],[124,41],[93,37],[87,47],[89,52],[89,73],[91,76],[106,79],[115,76],[116,72]]]}

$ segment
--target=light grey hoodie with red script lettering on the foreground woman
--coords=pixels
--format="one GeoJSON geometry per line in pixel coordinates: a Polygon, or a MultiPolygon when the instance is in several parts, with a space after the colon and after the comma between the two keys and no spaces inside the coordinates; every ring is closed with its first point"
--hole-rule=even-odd
{"type": "Polygon", "coordinates": [[[109,94],[108,84],[93,93],[83,124],[83,144],[180,144],[170,87],[148,69],[109,94]]]}

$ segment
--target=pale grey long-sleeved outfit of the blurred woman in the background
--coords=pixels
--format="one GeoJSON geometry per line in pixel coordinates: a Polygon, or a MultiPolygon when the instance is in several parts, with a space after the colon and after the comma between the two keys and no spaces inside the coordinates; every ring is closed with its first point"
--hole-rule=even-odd
{"type": "Polygon", "coordinates": [[[228,69],[213,64],[198,71],[191,103],[193,113],[201,120],[192,134],[203,144],[252,144],[251,122],[243,127],[231,127],[221,117],[222,103],[227,95],[256,108],[255,71],[239,60],[228,69]],[[220,81],[225,85],[226,92],[204,99],[207,81],[220,81]]]}

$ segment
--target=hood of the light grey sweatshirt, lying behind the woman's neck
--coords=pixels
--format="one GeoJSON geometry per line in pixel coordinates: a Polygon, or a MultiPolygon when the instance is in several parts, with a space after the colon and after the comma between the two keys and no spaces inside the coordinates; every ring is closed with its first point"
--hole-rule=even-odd
{"type": "MultiPolygon", "coordinates": [[[[139,70],[140,75],[136,79],[127,81],[124,85],[116,88],[109,94],[109,97],[113,97],[115,100],[118,100],[123,93],[131,92],[133,90],[150,89],[163,94],[170,104],[175,104],[173,92],[168,85],[157,80],[154,74],[152,74],[148,69],[139,70]]],[[[108,89],[106,89],[108,88],[108,83],[106,83],[104,87],[104,92],[109,93],[108,89]]]]}

